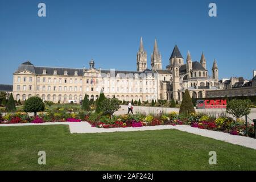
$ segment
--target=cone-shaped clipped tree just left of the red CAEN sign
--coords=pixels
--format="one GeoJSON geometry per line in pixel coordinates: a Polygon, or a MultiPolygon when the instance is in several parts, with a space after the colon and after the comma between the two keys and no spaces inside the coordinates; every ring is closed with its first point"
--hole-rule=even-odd
{"type": "Polygon", "coordinates": [[[190,94],[188,92],[188,89],[185,90],[183,100],[180,105],[180,111],[179,113],[185,113],[185,114],[191,114],[196,113],[195,108],[193,106],[190,94]]]}

